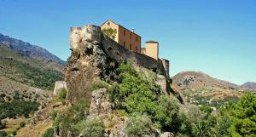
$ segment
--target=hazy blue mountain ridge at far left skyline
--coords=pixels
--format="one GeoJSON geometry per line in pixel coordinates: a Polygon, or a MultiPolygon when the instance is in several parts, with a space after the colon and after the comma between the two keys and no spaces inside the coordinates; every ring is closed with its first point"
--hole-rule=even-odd
{"type": "Polygon", "coordinates": [[[46,49],[43,49],[39,46],[32,45],[31,43],[23,42],[19,39],[13,37],[4,36],[0,33],[0,43],[3,43],[19,53],[21,56],[30,57],[35,60],[44,60],[45,62],[55,62],[60,65],[64,65],[65,61],[61,60],[54,54],[49,53],[46,49]]]}

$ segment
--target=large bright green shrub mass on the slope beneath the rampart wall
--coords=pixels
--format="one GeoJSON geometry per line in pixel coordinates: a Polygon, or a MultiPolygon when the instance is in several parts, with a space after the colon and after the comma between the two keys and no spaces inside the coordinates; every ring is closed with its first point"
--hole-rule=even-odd
{"type": "Polygon", "coordinates": [[[109,99],[116,109],[129,115],[145,113],[154,127],[163,131],[178,130],[181,124],[177,117],[177,99],[160,95],[160,86],[154,79],[138,73],[131,64],[121,64],[118,72],[119,84],[114,84],[109,91],[109,99]]]}

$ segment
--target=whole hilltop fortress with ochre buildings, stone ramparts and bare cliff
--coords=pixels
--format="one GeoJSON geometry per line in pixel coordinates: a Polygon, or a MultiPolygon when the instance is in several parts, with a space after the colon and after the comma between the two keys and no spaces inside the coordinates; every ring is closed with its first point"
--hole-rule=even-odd
{"type": "MultiPolygon", "coordinates": [[[[106,23],[108,26],[108,21],[106,23]]],[[[110,25],[111,23],[108,27],[110,25]]],[[[124,27],[117,28],[119,32],[112,39],[102,32],[103,26],[104,24],[102,27],[85,25],[70,29],[71,55],[67,60],[67,68],[64,70],[69,91],[67,100],[72,103],[81,97],[90,99],[90,85],[98,78],[106,82],[114,81],[117,77],[116,69],[122,62],[131,62],[137,71],[151,70],[162,93],[173,94],[169,77],[169,61],[159,59],[158,42],[148,41],[142,49],[141,37],[134,31],[124,29],[124,27]],[[129,37],[120,38],[124,30],[125,35],[129,37]],[[133,46],[132,43],[136,42],[137,44],[133,46]],[[126,43],[131,46],[125,46],[126,43]]]]}

